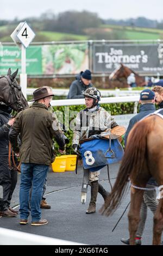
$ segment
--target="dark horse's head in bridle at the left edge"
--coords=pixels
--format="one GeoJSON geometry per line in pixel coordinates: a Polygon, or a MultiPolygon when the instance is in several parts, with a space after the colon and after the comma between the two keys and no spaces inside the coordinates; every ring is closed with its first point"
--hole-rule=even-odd
{"type": "Polygon", "coordinates": [[[1,88],[1,101],[7,106],[10,106],[17,112],[28,108],[28,102],[24,97],[21,86],[16,81],[18,69],[11,74],[11,69],[8,70],[7,76],[1,77],[0,88],[1,88]]]}

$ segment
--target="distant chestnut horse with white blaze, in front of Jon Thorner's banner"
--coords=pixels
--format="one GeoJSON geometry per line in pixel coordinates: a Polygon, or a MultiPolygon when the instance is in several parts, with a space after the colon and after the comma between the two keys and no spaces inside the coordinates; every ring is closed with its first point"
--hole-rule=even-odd
{"type": "MultiPolygon", "coordinates": [[[[145,77],[143,76],[139,76],[135,71],[129,69],[127,66],[124,66],[122,63],[120,65],[120,68],[116,69],[115,71],[113,71],[110,76],[109,76],[109,80],[114,81],[114,80],[118,80],[123,82],[123,78],[126,78],[131,74],[134,73],[135,74],[135,80],[136,80],[136,86],[146,86],[146,82],[145,82],[145,77]]],[[[127,81],[126,81],[126,86],[127,86],[127,81]]]]}

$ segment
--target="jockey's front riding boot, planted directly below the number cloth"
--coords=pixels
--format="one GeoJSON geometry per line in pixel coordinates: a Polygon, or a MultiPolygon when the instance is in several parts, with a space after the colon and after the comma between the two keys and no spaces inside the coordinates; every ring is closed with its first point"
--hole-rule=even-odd
{"type": "Polygon", "coordinates": [[[91,201],[86,214],[93,214],[96,211],[96,199],[98,194],[98,180],[91,182],[91,201]]]}

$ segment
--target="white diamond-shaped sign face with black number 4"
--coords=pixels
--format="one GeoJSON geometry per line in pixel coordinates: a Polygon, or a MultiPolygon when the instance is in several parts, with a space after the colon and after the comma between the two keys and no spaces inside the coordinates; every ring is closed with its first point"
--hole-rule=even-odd
{"type": "Polygon", "coordinates": [[[22,44],[27,48],[30,42],[32,42],[32,40],[34,39],[35,33],[25,21],[16,36],[22,42],[22,44]]]}

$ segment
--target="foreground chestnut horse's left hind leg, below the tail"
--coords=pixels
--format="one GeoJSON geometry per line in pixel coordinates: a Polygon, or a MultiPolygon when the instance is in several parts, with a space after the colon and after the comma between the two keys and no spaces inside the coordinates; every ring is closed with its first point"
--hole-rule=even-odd
{"type": "Polygon", "coordinates": [[[135,245],[135,235],[140,219],[140,207],[142,203],[143,190],[131,187],[131,203],[128,212],[130,245],[135,245]]]}

